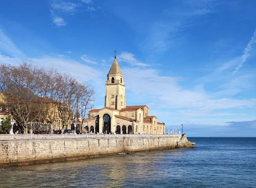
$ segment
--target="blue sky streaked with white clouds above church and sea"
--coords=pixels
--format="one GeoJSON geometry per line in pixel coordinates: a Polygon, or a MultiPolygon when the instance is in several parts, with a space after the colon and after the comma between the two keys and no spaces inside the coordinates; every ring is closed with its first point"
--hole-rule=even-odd
{"type": "Polygon", "coordinates": [[[166,131],[256,136],[256,1],[2,0],[0,63],[55,67],[96,90],[117,50],[126,104],[166,131]]]}

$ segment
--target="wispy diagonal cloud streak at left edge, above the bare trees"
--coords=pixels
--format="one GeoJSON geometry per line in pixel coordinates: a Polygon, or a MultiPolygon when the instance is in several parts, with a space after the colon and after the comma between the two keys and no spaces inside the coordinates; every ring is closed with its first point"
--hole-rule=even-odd
{"type": "Polygon", "coordinates": [[[25,54],[23,54],[16,45],[9,39],[8,36],[6,36],[3,31],[0,29],[0,52],[7,53],[10,56],[13,57],[25,57],[25,54]]]}

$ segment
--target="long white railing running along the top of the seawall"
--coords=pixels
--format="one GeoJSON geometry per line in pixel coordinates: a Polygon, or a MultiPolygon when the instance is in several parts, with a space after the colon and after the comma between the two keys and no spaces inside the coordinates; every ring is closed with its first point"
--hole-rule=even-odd
{"type": "Polygon", "coordinates": [[[26,134],[26,135],[10,135],[10,134],[0,134],[0,140],[10,140],[10,139],[86,139],[86,138],[148,138],[148,137],[178,137],[178,135],[148,135],[148,134],[82,134],[82,135],[74,135],[74,134],[45,134],[45,135],[34,135],[34,134],[26,134]]]}

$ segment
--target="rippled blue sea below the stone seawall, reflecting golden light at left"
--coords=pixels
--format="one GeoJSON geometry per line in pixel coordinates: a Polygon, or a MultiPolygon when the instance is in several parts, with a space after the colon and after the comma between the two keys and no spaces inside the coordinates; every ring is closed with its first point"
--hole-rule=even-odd
{"type": "Polygon", "coordinates": [[[0,168],[0,188],[256,188],[256,138],[195,148],[0,168]]]}

